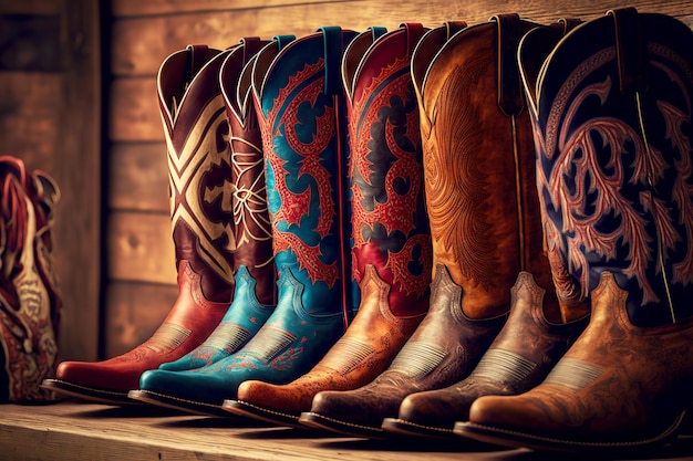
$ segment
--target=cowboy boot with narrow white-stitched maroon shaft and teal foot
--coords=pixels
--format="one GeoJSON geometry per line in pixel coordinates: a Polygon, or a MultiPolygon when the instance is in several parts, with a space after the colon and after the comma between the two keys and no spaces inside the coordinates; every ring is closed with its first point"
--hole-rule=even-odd
{"type": "MultiPolygon", "coordinates": [[[[159,369],[195,369],[228,357],[260,329],[277,303],[262,139],[249,93],[252,57],[267,43],[259,38],[241,39],[228,53],[219,71],[231,133],[230,206],[234,210],[236,240],[234,302],[200,346],[175,362],[159,365],[159,369]]],[[[138,390],[128,396],[145,401],[156,398],[138,390]]]]}

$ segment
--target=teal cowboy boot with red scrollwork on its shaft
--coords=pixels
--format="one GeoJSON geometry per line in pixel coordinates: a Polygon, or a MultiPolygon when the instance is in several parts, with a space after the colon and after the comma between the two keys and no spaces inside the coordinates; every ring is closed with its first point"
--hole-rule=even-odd
{"type": "Polygon", "coordinates": [[[278,39],[257,56],[254,96],[279,272],[277,308],[229,357],[196,370],[143,374],[141,389],[165,394],[167,406],[229,416],[221,405],[236,398],[242,381],[289,383],[344,333],[353,306],[344,276],[350,206],[341,184],[348,146],[340,135],[346,113],[339,63],[354,35],[323,28],[286,44],[278,39]]]}

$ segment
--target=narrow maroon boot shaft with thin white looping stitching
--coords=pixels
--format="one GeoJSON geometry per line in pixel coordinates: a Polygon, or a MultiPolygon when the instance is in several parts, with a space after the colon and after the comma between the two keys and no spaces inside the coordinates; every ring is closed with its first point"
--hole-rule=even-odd
{"type": "Polygon", "coordinates": [[[229,185],[236,249],[234,273],[240,266],[255,280],[258,302],[276,304],[272,231],[267,207],[262,137],[252,104],[251,77],[257,53],[269,41],[244,38],[226,56],[219,72],[230,137],[229,185]]]}

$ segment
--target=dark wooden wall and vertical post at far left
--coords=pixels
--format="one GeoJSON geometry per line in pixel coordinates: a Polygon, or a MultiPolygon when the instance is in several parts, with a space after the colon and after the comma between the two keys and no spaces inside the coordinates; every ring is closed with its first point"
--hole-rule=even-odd
{"type": "Polygon", "coordinates": [[[0,0],[0,155],[58,182],[60,356],[96,358],[101,290],[99,2],[0,0]]]}

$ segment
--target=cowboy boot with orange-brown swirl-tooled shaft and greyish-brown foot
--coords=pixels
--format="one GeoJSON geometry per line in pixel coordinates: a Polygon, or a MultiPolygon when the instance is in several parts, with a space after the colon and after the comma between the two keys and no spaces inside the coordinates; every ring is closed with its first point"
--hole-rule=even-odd
{"type": "MultiPolygon", "coordinates": [[[[397,417],[408,395],[451,386],[474,369],[506,321],[521,270],[550,284],[538,258],[534,146],[529,119],[518,116],[521,87],[517,77],[500,85],[497,78],[519,33],[536,25],[503,15],[418,44],[416,53],[437,51],[417,82],[425,88],[420,109],[435,264],[431,307],[384,373],[359,389],[319,392],[301,416],[306,425],[383,436],[383,419],[397,417]]],[[[416,76],[421,69],[414,66],[416,76]]]]}

